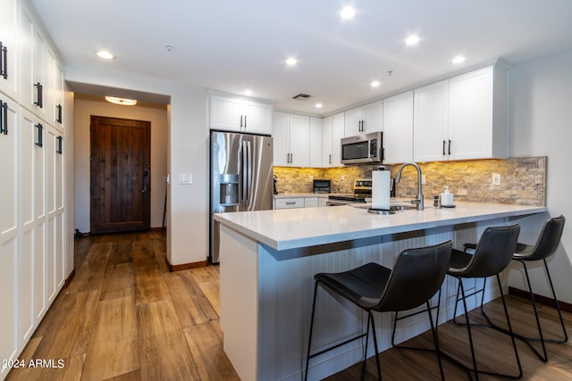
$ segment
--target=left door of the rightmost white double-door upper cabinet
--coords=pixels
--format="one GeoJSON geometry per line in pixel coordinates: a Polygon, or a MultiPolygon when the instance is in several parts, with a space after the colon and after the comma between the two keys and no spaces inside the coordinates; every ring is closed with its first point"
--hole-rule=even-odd
{"type": "Polygon", "coordinates": [[[416,162],[447,159],[449,82],[444,80],[416,89],[413,108],[413,159],[416,162]]]}

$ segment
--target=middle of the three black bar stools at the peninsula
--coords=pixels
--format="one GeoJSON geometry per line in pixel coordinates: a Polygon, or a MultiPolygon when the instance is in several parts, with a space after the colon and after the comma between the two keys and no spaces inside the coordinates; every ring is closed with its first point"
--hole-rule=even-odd
{"type": "MultiPolygon", "coordinates": [[[[475,245],[475,253],[469,254],[466,252],[461,252],[453,249],[450,257],[450,269],[447,272],[451,277],[456,277],[458,279],[457,287],[457,300],[455,302],[455,311],[453,316],[457,316],[457,305],[459,301],[463,302],[463,307],[465,309],[465,321],[464,325],[467,326],[467,334],[469,346],[471,349],[471,358],[473,361],[473,368],[468,368],[457,359],[452,357],[450,354],[443,352],[442,354],[458,363],[461,367],[467,369],[467,371],[473,371],[475,373],[475,379],[478,380],[479,373],[484,373],[492,376],[509,377],[509,378],[520,378],[522,377],[522,367],[520,365],[520,358],[518,357],[517,344],[515,342],[515,336],[512,332],[512,326],[510,325],[509,311],[507,310],[507,303],[505,302],[504,295],[502,294],[501,277],[499,273],[503,269],[509,266],[512,254],[515,252],[517,247],[518,233],[520,232],[519,225],[513,225],[509,227],[498,227],[498,228],[486,228],[484,230],[483,236],[481,236],[479,243],[475,245]],[[509,327],[510,340],[512,341],[512,346],[514,348],[515,357],[517,359],[518,374],[517,375],[506,375],[502,373],[489,372],[477,369],[476,357],[475,357],[475,347],[473,344],[473,337],[471,335],[471,326],[473,325],[469,322],[468,311],[467,311],[467,297],[474,294],[483,293],[483,298],[481,299],[481,304],[483,304],[484,299],[484,286],[480,290],[476,290],[472,294],[465,294],[465,287],[463,286],[463,278],[485,278],[495,276],[497,278],[497,283],[501,289],[501,299],[502,306],[504,308],[505,318],[507,319],[507,324],[509,327]],[[459,291],[461,297],[459,298],[459,291]]],[[[484,283],[485,285],[486,283],[484,283]]],[[[481,310],[483,311],[483,310],[481,310]]]]}

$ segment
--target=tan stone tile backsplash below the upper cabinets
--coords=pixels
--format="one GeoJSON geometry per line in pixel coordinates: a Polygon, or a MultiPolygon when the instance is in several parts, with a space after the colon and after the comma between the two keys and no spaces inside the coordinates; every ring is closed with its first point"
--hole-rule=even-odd
{"type": "MultiPolygon", "coordinates": [[[[423,193],[425,203],[433,202],[433,195],[440,195],[443,186],[449,186],[456,201],[476,203],[515,203],[521,205],[545,205],[546,156],[509,158],[507,160],[475,160],[466,162],[418,163],[425,175],[423,193]],[[492,185],[492,174],[501,175],[501,185],[492,185]]],[[[279,193],[312,192],[314,178],[330,178],[332,192],[352,193],[356,178],[371,178],[376,166],[340,168],[290,168],[274,167],[278,177],[279,193]]],[[[388,166],[395,178],[400,165],[388,166]]],[[[416,170],[408,167],[396,185],[396,196],[415,197],[417,193],[416,170]]]]}

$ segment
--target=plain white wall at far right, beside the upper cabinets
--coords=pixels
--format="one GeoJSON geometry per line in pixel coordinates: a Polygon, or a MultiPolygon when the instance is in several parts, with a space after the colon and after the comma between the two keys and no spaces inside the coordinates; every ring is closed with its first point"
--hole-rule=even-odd
{"type": "MultiPolygon", "coordinates": [[[[559,251],[549,261],[559,300],[572,302],[572,50],[525,62],[510,70],[510,156],[548,156],[546,206],[549,215],[522,223],[521,241],[534,244],[544,219],[567,219],[559,251]]],[[[536,266],[538,267],[538,266],[536,266]]],[[[521,266],[509,285],[526,290],[521,266]]],[[[517,270],[516,270],[517,269],[517,270]]],[[[534,269],[536,294],[550,295],[541,269],[534,269]]]]}

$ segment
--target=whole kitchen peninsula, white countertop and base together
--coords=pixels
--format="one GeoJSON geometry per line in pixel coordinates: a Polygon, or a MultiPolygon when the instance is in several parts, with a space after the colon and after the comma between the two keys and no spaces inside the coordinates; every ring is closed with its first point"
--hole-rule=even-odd
{"type": "MultiPolygon", "coordinates": [[[[476,242],[486,227],[545,211],[543,206],[458,203],[456,208],[392,215],[350,206],[216,214],[221,224],[224,351],[241,379],[299,380],[306,366],[315,273],[343,271],[369,261],[391,268],[400,251],[409,247],[449,239],[459,247],[476,242]]],[[[474,288],[475,281],[469,282],[467,289],[474,288]]],[[[452,318],[456,286],[449,277],[443,283],[440,322],[452,318]]],[[[485,300],[499,292],[488,287],[485,300]]],[[[341,306],[343,302],[332,297],[318,301],[313,352],[366,327],[365,315],[355,306],[341,306]]],[[[469,302],[469,308],[474,307],[475,297],[469,302]]],[[[383,351],[391,345],[391,316],[374,315],[383,351]]],[[[428,328],[423,315],[400,322],[396,341],[428,328]]],[[[324,353],[313,360],[309,377],[319,379],[345,369],[359,361],[362,352],[362,343],[355,341],[324,353]]]]}

